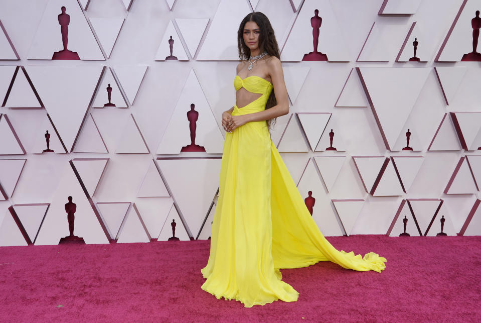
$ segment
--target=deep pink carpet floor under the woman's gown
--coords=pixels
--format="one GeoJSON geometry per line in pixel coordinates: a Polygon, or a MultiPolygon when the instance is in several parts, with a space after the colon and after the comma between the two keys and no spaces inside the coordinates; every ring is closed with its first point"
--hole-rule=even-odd
{"type": "Polygon", "coordinates": [[[252,308],[200,288],[207,241],[0,247],[0,321],[481,320],[481,237],[329,240],[386,270],[282,270],[299,300],[252,308]]]}

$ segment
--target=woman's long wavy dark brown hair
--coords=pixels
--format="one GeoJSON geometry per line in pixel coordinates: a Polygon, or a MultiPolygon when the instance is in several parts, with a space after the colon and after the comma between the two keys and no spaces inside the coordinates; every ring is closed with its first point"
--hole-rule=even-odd
{"type": "MultiPolygon", "coordinates": [[[[239,58],[241,60],[248,60],[250,58],[250,49],[244,43],[244,26],[247,22],[253,21],[254,23],[259,26],[260,34],[259,34],[259,49],[260,52],[267,52],[270,56],[275,56],[280,59],[279,54],[279,46],[277,45],[277,41],[274,35],[274,29],[269,22],[269,19],[261,12],[253,12],[245,16],[242,22],[239,25],[239,30],[237,31],[237,47],[239,49],[239,58]]],[[[270,107],[277,104],[277,100],[275,99],[275,93],[272,89],[272,92],[267,99],[267,103],[265,109],[269,109],[270,107]]],[[[267,127],[270,130],[271,126],[275,124],[276,118],[267,120],[267,127]]]]}

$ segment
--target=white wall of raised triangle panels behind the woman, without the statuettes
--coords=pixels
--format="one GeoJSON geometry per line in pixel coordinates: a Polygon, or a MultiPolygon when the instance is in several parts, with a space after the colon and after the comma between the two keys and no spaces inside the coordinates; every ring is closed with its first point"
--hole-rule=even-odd
{"type": "Polygon", "coordinates": [[[272,23],[291,103],[271,138],[325,235],[399,236],[405,216],[411,236],[442,216],[447,235],[481,235],[481,64],[460,61],[481,0],[0,0],[0,245],[57,244],[69,195],[86,243],[167,240],[173,220],[181,240],[209,237],[252,10],[272,23]],[[81,60],[51,60],[62,6],[81,60]],[[329,61],[301,61],[314,9],[329,61]],[[180,152],[191,103],[206,152],[180,152]]]}

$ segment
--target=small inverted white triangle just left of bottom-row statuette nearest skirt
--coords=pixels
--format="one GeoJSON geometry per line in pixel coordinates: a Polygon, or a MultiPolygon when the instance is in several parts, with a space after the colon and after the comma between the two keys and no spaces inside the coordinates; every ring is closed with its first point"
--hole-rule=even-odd
{"type": "Polygon", "coordinates": [[[172,198],[138,198],[135,205],[149,236],[157,238],[172,208],[172,198]]]}

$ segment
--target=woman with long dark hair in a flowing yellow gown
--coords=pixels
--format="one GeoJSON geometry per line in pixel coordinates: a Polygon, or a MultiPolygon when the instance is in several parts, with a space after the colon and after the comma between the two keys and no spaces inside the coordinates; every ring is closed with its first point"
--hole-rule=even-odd
{"type": "Polygon", "coordinates": [[[385,258],[338,251],[324,238],[270,139],[271,121],[289,107],[279,49],[264,14],[244,18],[238,47],[236,101],[222,114],[227,134],[202,289],[251,307],[297,300],[279,268],[329,260],[381,272],[385,258]]]}

